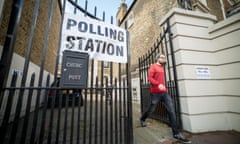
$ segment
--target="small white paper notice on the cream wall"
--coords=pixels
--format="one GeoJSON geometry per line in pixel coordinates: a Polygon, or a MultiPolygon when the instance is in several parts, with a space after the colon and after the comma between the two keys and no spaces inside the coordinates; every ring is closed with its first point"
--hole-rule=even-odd
{"type": "Polygon", "coordinates": [[[197,79],[211,79],[211,73],[206,66],[196,66],[196,78],[197,79]]]}

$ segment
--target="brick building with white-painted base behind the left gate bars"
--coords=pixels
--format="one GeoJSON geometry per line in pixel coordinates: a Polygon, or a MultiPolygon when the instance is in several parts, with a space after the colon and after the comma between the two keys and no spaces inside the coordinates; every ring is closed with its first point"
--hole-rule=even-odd
{"type": "MultiPolygon", "coordinates": [[[[35,76],[39,77],[40,67],[42,65],[43,79],[38,79],[42,81],[42,84],[46,84],[47,75],[50,74],[51,82],[53,81],[55,66],[56,66],[56,57],[58,50],[58,40],[61,26],[61,9],[58,3],[58,0],[54,0],[51,4],[51,1],[38,1],[28,0],[23,3],[23,9],[21,13],[21,19],[18,24],[18,30],[16,35],[16,41],[13,47],[13,55],[10,63],[9,73],[6,75],[7,81],[6,85],[10,85],[13,73],[16,72],[18,78],[16,80],[16,85],[21,85],[21,80],[23,75],[26,76],[25,86],[30,85],[31,75],[34,73],[35,76]],[[51,10],[51,5],[53,5],[51,10]],[[38,10],[38,12],[36,11],[38,10]],[[52,13],[51,18],[49,18],[50,11],[52,13]],[[49,31],[47,27],[49,25],[49,31]],[[33,32],[33,33],[32,33],[33,32]],[[30,50],[29,55],[29,67],[27,74],[24,73],[25,61],[27,61],[27,51],[30,50]],[[46,53],[44,54],[44,49],[46,48],[46,53]],[[43,60],[44,59],[44,60],[43,60]],[[43,64],[44,61],[44,64],[43,64]]],[[[7,31],[11,24],[9,24],[11,11],[13,8],[13,2],[3,0],[1,1],[0,9],[0,55],[3,56],[3,47],[6,43],[7,31]]],[[[15,36],[15,35],[14,35],[15,36]]],[[[13,37],[13,36],[12,36],[13,37]]],[[[2,65],[1,65],[1,68],[2,65]]],[[[34,84],[38,85],[38,81],[34,84]]],[[[17,95],[18,93],[16,93],[17,95]]],[[[36,92],[34,92],[36,94],[36,92]]],[[[27,95],[25,93],[25,95],[27,95]]],[[[42,93],[43,95],[43,93],[42,93]]],[[[41,95],[41,96],[42,96],[41,95]]],[[[31,111],[34,110],[36,96],[33,97],[31,103],[31,111]]],[[[1,111],[0,111],[0,121],[2,121],[4,116],[4,111],[7,105],[7,96],[1,96],[1,111]]],[[[13,105],[17,103],[17,96],[13,98],[13,105]]],[[[43,101],[41,97],[40,101],[43,101]]],[[[26,99],[24,99],[23,105],[26,105],[26,99]]],[[[21,114],[24,113],[26,107],[21,109],[21,114]]],[[[14,117],[14,109],[12,109],[10,121],[14,117]]]]}

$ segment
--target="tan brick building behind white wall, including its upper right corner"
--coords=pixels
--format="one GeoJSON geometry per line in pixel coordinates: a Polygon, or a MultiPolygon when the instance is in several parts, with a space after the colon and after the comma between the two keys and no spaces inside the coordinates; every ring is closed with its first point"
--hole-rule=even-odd
{"type": "MultiPolygon", "coordinates": [[[[121,27],[130,32],[131,70],[138,67],[138,57],[147,52],[160,34],[159,20],[172,8],[181,7],[181,0],[135,0],[127,8],[125,3],[120,5],[116,21],[121,27]]],[[[239,1],[233,0],[192,0],[192,9],[209,13],[217,17],[216,22],[226,19],[239,11],[239,1]]]]}

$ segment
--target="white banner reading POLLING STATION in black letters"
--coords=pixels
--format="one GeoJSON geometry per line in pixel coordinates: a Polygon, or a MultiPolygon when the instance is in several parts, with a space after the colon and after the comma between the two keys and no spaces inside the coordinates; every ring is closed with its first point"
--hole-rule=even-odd
{"type": "Polygon", "coordinates": [[[102,21],[65,13],[61,55],[64,50],[88,53],[95,60],[126,63],[127,32],[102,21]]]}

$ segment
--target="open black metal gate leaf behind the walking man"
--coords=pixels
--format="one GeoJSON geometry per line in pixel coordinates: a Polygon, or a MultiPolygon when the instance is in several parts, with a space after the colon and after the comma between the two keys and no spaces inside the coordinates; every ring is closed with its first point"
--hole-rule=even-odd
{"type": "MultiPolygon", "coordinates": [[[[148,69],[151,64],[155,63],[155,56],[157,53],[166,55],[167,63],[165,65],[165,81],[167,84],[168,93],[171,95],[175,113],[177,117],[178,126],[181,128],[181,116],[179,106],[178,83],[176,74],[176,64],[172,44],[172,33],[169,20],[166,21],[165,27],[162,29],[159,39],[157,39],[154,47],[149,49],[148,52],[139,58],[139,76],[140,76],[140,89],[141,89],[141,110],[146,111],[150,105],[151,97],[149,93],[150,84],[147,80],[148,69]]],[[[152,118],[158,119],[162,122],[169,124],[167,111],[162,103],[159,103],[156,111],[151,114],[152,118]]]]}

